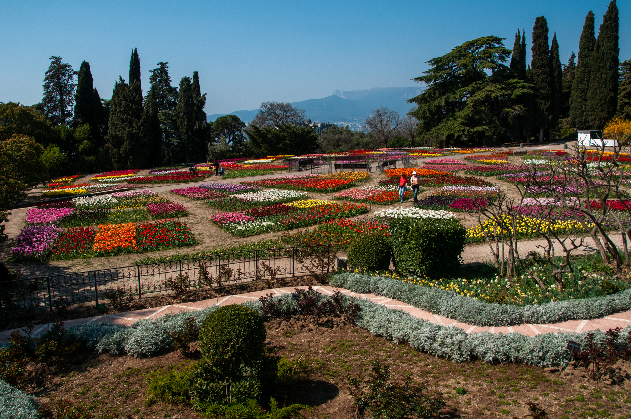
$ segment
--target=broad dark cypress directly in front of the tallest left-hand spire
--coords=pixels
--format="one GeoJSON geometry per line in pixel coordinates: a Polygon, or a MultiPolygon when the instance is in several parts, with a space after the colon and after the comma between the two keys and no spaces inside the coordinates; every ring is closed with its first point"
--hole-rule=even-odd
{"type": "Polygon", "coordinates": [[[107,150],[115,169],[143,168],[147,155],[141,134],[143,98],[119,76],[114,85],[107,132],[107,150]]]}

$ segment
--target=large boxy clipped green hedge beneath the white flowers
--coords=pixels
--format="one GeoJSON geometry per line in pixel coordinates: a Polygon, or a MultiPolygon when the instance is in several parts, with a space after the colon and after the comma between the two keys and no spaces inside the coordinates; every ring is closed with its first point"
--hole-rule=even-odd
{"type": "Polygon", "coordinates": [[[466,232],[454,218],[399,218],[390,221],[393,259],[399,274],[430,278],[455,276],[466,232]]]}

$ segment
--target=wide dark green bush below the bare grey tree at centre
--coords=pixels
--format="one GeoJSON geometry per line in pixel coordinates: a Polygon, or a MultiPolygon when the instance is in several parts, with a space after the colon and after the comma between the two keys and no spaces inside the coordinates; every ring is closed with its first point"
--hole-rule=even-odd
{"type": "Polygon", "coordinates": [[[249,147],[254,156],[313,153],[318,136],[312,128],[283,124],[278,128],[251,125],[247,131],[249,147]]]}

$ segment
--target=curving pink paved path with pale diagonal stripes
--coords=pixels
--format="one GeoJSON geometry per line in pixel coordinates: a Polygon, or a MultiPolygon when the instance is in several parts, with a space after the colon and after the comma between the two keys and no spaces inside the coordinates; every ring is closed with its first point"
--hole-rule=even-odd
{"type": "MultiPolygon", "coordinates": [[[[269,292],[273,292],[276,295],[283,293],[290,293],[295,288],[307,289],[307,286],[298,287],[286,287],[286,288],[272,288],[271,290],[262,290],[245,294],[229,295],[228,297],[213,298],[212,300],[203,300],[196,302],[187,302],[182,304],[165,305],[163,307],[154,307],[151,309],[134,310],[121,312],[116,314],[105,314],[103,316],[86,317],[84,319],[74,319],[64,322],[64,327],[71,328],[73,326],[81,326],[82,324],[90,324],[92,322],[110,322],[114,324],[121,324],[129,326],[134,322],[142,319],[153,319],[163,316],[168,313],[179,313],[182,311],[194,311],[205,309],[211,305],[229,305],[240,304],[248,300],[258,300],[259,297],[267,295],[269,292]]],[[[607,329],[620,326],[625,328],[631,324],[631,311],[625,311],[620,313],[611,314],[610,316],[601,317],[593,320],[570,320],[566,322],[553,323],[553,324],[519,324],[518,326],[473,326],[471,324],[457,322],[454,319],[448,319],[447,317],[438,316],[425,310],[417,309],[409,304],[398,300],[392,300],[391,298],[380,297],[375,294],[358,294],[345,290],[344,288],[335,288],[333,286],[314,286],[314,289],[325,295],[332,295],[335,290],[340,290],[346,295],[351,295],[357,298],[364,298],[382,304],[385,307],[391,309],[403,310],[411,314],[411,316],[425,319],[432,323],[441,324],[443,326],[451,326],[461,328],[466,333],[522,333],[528,336],[534,336],[535,334],[543,333],[563,333],[563,332],[587,332],[595,329],[601,329],[606,331],[607,329]]],[[[38,324],[35,326],[35,336],[45,333],[49,330],[52,324],[38,324]]],[[[9,335],[12,331],[18,329],[12,329],[0,332],[0,342],[8,342],[9,335]]]]}

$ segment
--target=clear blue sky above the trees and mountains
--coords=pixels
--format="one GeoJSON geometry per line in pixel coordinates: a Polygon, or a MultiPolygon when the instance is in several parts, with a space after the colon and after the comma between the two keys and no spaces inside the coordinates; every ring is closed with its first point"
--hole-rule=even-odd
{"type": "MultiPolygon", "coordinates": [[[[609,4],[574,1],[8,1],[0,15],[0,101],[42,98],[52,55],[78,69],[90,62],[101,97],[127,78],[138,47],[143,90],[148,70],[168,61],[174,85],[199,71],[206,113],[297,102],[334,90],[416,86],[425,61],[466,40],[505,37],[512,48],[536,16],[557,32],[561,61],[578,52],[584,18],[596,35],[609,4]]],[[[618,1],[620,59],[631,58],[631,1],[618,1]]],[[[528,62],[530,57],[528,57],[528,62]]]]}

